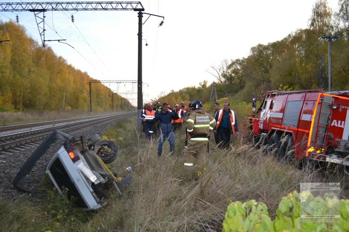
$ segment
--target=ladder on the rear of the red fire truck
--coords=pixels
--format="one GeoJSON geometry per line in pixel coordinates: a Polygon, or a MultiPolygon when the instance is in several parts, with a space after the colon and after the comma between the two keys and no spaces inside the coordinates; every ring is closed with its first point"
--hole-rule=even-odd
{"type": "Polygon", "coordinates": [[[316,127],[313,128],[312,136],[314,138],[314,152],[318,154],[323,153],[325,151],[328,142],[327,130],[331,123],[333,101],[333,97],[323,96],[320,98],[318,104],[318,109],[314,121],[314,126],[316,127]]]}

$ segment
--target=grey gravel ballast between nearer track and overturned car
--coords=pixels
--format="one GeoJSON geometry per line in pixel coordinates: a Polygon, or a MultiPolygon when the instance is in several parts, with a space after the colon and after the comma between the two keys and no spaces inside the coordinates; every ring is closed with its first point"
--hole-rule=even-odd
{"type": "MultiPolygon", "coordinates": [[[[121,118],[113,119],[110,121],[98,123],[91,127],[86,128],[81,132],[70,134],[74,137],[80,137],[81,135],[85,138],[89,138],[95,134],[102,136],[104,130],[108,127],[115,125],[117,120],[124,120],[129,118],[130,115],[126,115],[121,118]]],[[[37,186],[45,175],[45,170],[50,162],[52,156],[62,146],[62,141],[58,141],[51,145],[50,149],[38,160],[32,171],[25,178],[24,185],[26,186],[37,186]]],[[[31,149],[25,149],[23,151],[12,153],[9,155],[0,155],[0,200],[12,201],[16,199],[26,199],[29,197],[29,193],[17,189],[13,186],[12,181],[17,175],[18,171],[23,166],[24,162],[30,157],[33,151],[38,146],[32,147],[31,149]]],[[[34,193],[35,194],[35,193],[34,193]]]]}

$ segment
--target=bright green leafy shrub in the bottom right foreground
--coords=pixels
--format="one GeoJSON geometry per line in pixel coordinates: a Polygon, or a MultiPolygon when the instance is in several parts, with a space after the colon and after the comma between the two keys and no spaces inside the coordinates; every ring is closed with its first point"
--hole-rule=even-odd
{"type": "MultiPolygon", "coordinates": [[[[309,191],[301,193],[307,195],[307,199],[314,207],[321,209],[321,212],[331,208],[333,201],[336,198],[327,198],[324,201],[319,201],[318,197],[314,197],[309,191]],[[319,203],[321,202],[321,203],[319,203]],[[319,204],[316,206],[316,204],[319,204]],[[327,207],[327,208],[326,208],[327,207]]],[[[245,203],[236,201],[230,203],[225,213],[222,232],[310,232],[310,231],[337,231],[344,232],[349,230],[349,200],[340,200],[339,222],[305,222],[300,221],[300,194],[297,191],[289,193],[287,197],[282,197],[279,206],[276,209],[276,217],[272,221],[269,217],[268,208],[264,203],[250,200],[245,203]]],[[[325,215],[325,214],[324,214],[325,215]]]]}

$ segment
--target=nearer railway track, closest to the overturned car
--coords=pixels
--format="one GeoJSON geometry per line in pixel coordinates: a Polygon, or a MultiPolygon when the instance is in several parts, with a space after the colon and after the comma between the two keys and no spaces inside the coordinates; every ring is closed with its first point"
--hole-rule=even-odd
{"type": "MultiPolygon", "coordinates": [[[[76,130],[79,130],[82,128],[86,129],[86,127],[90,127],[97,123],[109,121],[115,118],[120,118],[125,115],[130,115],[133,113],[134,112],[112,114],[112,115],[107,115],[99,118],[91,118],[84,121],[67,122],[59,126],[49,126],[49,127],[40,128],[40,129],[34,129],[34,130],[28,130],[24,132],[3,135],[3,136],[0,136],[0,154],[9,154],[13,152],[19,152],[29,147],[34,147],[40,144],[43,141],[43,139],[49,136],[51,132],[55,129],[59,129],[69,134],[69,132],[72,132],[72,131],[76,132],[76,130]]],[[[86,117],[86,118],[90,118],[90,117],[86,117]]],[[[72,121],[72,119],[70,119],[70,121],[72,121]]],[[[46,123],[46,122],[43,122],[43,123],[46,123]]],[[[49,123],[49,124],[52,124],[52,123],[49,123]]],[[[45,125],[48,125],[48,124],[45,124],[45,125]]],[[[35,126],[37,126],[37,124],[35,126]]],[[[15,129],[18,129],[18,127],[15,129]]]]}

